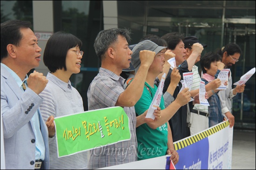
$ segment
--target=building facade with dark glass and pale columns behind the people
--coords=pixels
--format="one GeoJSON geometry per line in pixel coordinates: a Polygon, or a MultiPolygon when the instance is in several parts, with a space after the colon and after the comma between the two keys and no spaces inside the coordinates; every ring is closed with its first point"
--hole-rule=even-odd
{"type": "MultiPolygon", "coordinates": [[[[236,43],[243,51],[239,62],[231,68],[233,82],[237,82],[256,65],[255,3],[255,0],[1,0],[1,23],[9,19],[31,21],[41,54],[47,39],[56,31],[72,33],[82,40],[81,50],[85,54],[81,72],[73,75],[71,82],[87,110],[87,90],[101,66],[93,47],[99,31],[128,28],[132,31],[130,44],[137,44],[147,34],[161,37],[168,32],[180,32],[207,44],[203,54],[236,43]]],[[[44,75],[48,72],[43,62],[36,70],[44,75]]],[[[256,128],[255,82],[254,74],[244,93],[233,99],[235,128],[256,128]]]]}

